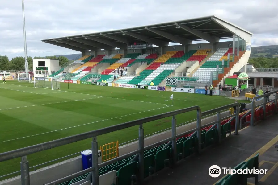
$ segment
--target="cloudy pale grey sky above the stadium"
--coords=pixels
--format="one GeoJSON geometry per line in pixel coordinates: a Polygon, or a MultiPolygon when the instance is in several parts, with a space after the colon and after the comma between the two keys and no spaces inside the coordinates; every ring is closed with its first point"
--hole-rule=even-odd
{"type": "MultiPolygon", "coordinates": [[[[79,53],[41,39],[217,15],[278,45],[277,0],[24,0],[28,56],[79,53]],[[222,2],[222,3],[221,3],[222,2]]],[[[21,0],[0,0],[0,55],[24,56],[21,0]]]]}

